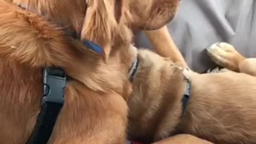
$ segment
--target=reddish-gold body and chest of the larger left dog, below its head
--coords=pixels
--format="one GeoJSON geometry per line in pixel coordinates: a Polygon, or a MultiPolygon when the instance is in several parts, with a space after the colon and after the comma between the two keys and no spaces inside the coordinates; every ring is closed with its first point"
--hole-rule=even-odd
{"type": "MultiPolygon", "coordinates": [[[[28,140],[40,111],[41,69],[52,65],[62,67],[73,80],[67,84],[66,101],[50,142],[123,143],[124,98],[130,93],[126,74],[132,64],[129,58],[134,58],[129,44],[120,44],[121,51],[104,62],[37,14],[3,0],[0,4],[0,143],[24,144],[28,140]]],[[[122,29],[126,31],[130,32],[122,29]]]]}

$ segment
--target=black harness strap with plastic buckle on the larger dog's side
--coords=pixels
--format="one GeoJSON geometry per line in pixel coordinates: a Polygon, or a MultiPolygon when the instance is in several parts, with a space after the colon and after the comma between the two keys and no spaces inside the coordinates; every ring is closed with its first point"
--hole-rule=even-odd
{"type": "Polygon", "coordinates": [[[64,104],[66,74],[60,68],[44,68],[44,96],[36,126],[27,144],[46,144],[64,104]]]}

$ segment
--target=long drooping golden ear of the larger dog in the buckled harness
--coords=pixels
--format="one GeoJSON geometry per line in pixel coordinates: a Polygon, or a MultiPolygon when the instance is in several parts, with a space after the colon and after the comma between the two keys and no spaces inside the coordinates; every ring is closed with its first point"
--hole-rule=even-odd
{"type": "Polygon", "coordinates": [[[87,0],[81,39],[100,45],[105,61],[112,52],[126,6],[127,0],[87,0]]]}

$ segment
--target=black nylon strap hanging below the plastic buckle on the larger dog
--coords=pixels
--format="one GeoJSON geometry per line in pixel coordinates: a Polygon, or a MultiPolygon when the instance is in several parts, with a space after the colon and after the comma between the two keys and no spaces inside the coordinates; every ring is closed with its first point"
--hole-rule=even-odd
{"type": "Polygon", "coordinates": [[[42,105],[34,132],[28,144],[46,144],[52,134],[55,122],[63,104],[45,102],[42,105]]]}

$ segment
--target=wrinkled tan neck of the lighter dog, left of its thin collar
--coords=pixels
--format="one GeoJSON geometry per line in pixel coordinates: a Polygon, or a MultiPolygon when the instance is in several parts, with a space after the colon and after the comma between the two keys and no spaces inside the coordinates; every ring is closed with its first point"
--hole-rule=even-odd
{"type": "Polygon", "coordinates": [[[159,135],[150,132],[156,132],[158,127],[163,124],[161,121],[166,117],[170,121],[174,121],[173,127],[180,122],[186,80],[182,74],[183,69],[179,66],[170,66],[168,62],[162,66],[159,64],[159,67],[154,65],[150,67],[149,65],[145,64],[143,59],[141,60],[133,82],[133,93],[128,101],[130,108],[129,132],[130,136],[138,138],[137,136],[140,135],[141,138],[152,142],[152,138],[159,138],[159,135]],[[166,110],[170,112],[167,114],[166,110]],[[141,131],[138,131],[138,126],[141,131]]]}

